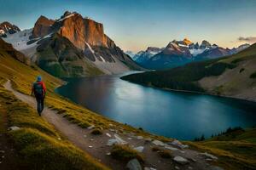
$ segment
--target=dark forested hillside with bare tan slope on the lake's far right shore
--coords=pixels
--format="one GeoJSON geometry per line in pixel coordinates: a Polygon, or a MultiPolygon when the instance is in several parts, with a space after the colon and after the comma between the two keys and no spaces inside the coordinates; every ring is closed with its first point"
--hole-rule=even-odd
{"type": "Polygon", "coordinates": [[[122,79],[157,88],[188,90],[256,101],[256,43],[237,54],[122,79]]]}

